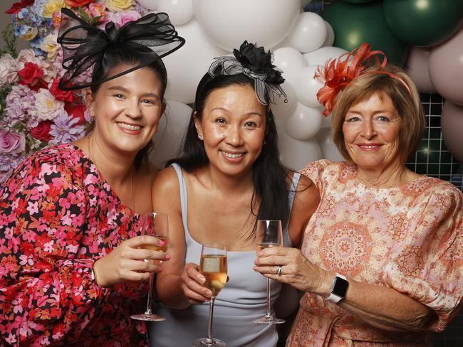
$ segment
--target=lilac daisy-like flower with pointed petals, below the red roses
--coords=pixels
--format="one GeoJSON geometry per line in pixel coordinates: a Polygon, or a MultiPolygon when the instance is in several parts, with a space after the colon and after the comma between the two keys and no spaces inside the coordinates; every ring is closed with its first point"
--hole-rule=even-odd
{"type": "Polygon", "coordinates": [[[68,144],[80,139],[85,135],[85,127],[76,125],[80,119],[69,117],[63,110],[53,119],[55,124],[51,124],[50,134],[53,137],[49,144],[68,144]]]}

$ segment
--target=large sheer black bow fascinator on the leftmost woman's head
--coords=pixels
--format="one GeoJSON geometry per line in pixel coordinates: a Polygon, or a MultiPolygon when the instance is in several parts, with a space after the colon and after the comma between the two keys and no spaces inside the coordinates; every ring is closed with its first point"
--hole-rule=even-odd
{"type": "Polygon", "coordinates": [[[73,11],[61,9],[58,43],[63,48],[63,68],[66,73],[58,87],[76,90],[99,85],[165,57],[182,47],[184,42],[165,13],[147,14],[120,28],[109,22],[105,30],[101,30],[79,18],[73,11]],[[91,82],[76,82],[76,78],[89,68],[105,68],[105,57],[115,51],[133,55],[138,60],[137,65],[117,75],[103,76],[100,80],[93,78],[91,82]]]}

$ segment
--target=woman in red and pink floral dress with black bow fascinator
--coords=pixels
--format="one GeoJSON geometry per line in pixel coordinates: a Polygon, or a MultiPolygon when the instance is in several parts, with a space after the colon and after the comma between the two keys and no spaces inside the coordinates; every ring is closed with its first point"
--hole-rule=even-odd
{"type": "Polygon", "coordinates": [[[149,346],[132,321],[147,294],[139,249],[152,211],[153,171],[145,157],[165,109],[162,56],[180,48],[166,14],[102,31],[63,9],[60,87],[86,93],[93,131],[38,151],[18,166],[0,196],[0,345],[149,346]],[[91,82],[76,78],[93,68],[91,82]]]}

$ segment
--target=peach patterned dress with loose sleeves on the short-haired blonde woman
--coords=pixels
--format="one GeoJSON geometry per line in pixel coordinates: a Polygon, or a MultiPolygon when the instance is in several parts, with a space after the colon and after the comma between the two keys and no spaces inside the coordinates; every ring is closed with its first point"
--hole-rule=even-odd
{"type": "MultiPolygon", "coordinates": [[[[463,295],[462,193],[420,176],[397,188],[368,188],[354,164],[316,161],[301,171],[321,203],[301,251],[308,260],[361,282],[391,287],[436,313],[442,331],[463,295]]],[[[287,347],[432,346],[430,332],[376,329],[345,309],[306,293],[287,347]]]]}

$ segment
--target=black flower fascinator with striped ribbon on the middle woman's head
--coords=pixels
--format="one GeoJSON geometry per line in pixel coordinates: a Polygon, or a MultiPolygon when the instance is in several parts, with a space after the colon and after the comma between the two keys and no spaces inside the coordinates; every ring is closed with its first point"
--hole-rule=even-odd
{"type": "Polygon", "coordinates": [[[275,95],[285,98],[286,93],[280,87],[284,82],[281,71],[277,70],[271,63],[271,53],[266,52],[264,47],[257,47],[253,43],[244,41],[239,50],[233,50],[234,57],[218,57],[209,67],[209,75],[237,75],[242,73],[254,80],[254,89],[257,99],[263,105],[269,100],[275,104],[275,95]]]}

